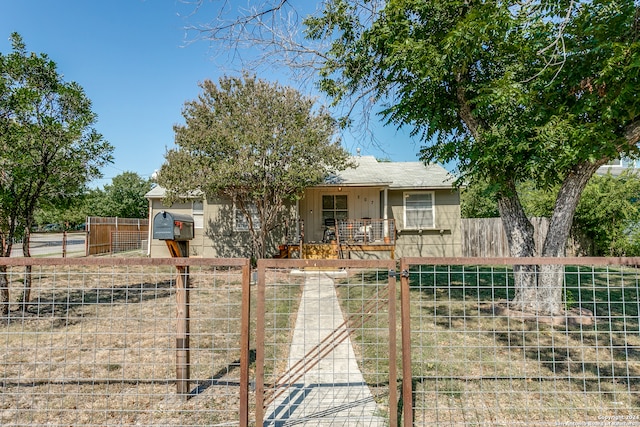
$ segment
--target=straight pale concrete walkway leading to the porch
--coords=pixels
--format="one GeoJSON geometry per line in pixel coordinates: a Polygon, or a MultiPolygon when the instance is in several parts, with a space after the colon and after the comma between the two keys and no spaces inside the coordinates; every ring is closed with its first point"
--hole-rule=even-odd
{"type": "Polygon", "coordinates": [[[385,418],[376,415],[377,405],[358,368],[346,328],[341,326],[344,317],[331,275],[322,271],[305,274],[288,363],[290,369],[304,374],[266,408],[264,425],[387,425],[385,418]],[[331,335],[340,339],[323,342],[331,335]],[[313,356],[318,346],[329,352],[319,361],[313,356]]]}

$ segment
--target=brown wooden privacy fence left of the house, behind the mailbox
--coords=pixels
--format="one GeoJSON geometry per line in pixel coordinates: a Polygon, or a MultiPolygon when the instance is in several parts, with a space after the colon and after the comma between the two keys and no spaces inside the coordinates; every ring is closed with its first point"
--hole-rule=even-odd
{"type": "Polygon", "coordinates": [[[86,255],[99,255],[142,248],[148,238],[149,220],[90,216],[86,227],[86,255]]]}

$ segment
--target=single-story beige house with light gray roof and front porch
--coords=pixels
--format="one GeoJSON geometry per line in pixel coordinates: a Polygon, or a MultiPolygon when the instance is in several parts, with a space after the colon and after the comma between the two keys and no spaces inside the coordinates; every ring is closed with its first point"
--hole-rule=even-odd
{"type": "MultiPolygon", "coordinates": [[[[422,162],[380,162],[372,156],[354,161],[356,167],[307,188],[301,200],[288,207],[270,236],[269,253],[300,256],[302,244],[303,257],[461,255],[460,194],[452,175],[422,162]]],[[[167,207],[164,194],[155,187],[145,196],[151,257],[169,256],[165,242],[152,239],[153,218],[161,211],[194,218],[190,256],[251,256],[247,221],[232,200],[193,196],[167,207]]]]}

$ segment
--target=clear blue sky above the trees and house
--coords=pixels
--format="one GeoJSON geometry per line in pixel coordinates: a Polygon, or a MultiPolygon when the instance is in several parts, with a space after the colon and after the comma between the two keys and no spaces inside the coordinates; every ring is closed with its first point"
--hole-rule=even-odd
{"type": "MultiPolygon", "coordinates": [[[[233,2],[232,2],[233,3],[233,2]]],[[[206,41],[189,42],[185,27],[211,20],[206,8],[180,0],[0,0],[0,52],[17,31],[28,51],[46,53],[66,81],[82,86],[98,115],[97,130],[115,147],[104,179],[133,171],[150,177],[172,148],[173,125],[198,83],[234,74],[237,64],[206,41]]],[[[275,80],[274,75],[260,75],[275,80]]],[[[281,84],[290,84],[280,77],[281,84]]],[[[293,84],[292,84],[293,85],[293,84]]],[[[343,136],[352,153],[415,161],[419,145],[394,128],[372,124],[382,149],[366,138],[343,136]]]]}

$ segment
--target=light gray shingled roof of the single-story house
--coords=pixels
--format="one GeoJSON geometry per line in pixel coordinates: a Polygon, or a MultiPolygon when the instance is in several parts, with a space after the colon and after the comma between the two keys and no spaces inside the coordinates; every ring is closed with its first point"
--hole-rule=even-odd
{"type": "MultiPolygon", "coordinates": [[[[451,188],[455,177],[442,166],[422,162],[378,162],[373,156],[354,157],[357,166],[327,177],[320,186],[388,186],[397,189],[451,188]]],[[[165,189],[156,186],[146,198],[164,197],[165,189]]]]}

